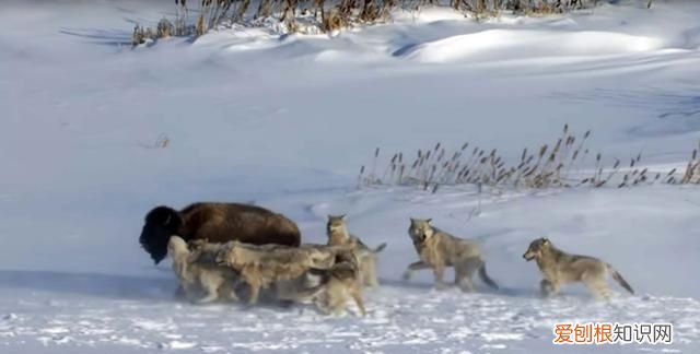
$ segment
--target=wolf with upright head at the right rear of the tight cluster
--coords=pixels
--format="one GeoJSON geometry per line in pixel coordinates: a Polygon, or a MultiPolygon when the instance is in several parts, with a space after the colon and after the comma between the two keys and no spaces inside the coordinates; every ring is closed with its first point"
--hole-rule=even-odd
{"type": "Polygon", "coordinates": [[[354,252],[360,262],[362,284],[368,287],[376,287],[380,285],[377,276],[377,253],[386,248],[386,243],[378,245],[374,249],[368,247],[359,237],[350,234],[345,214],[328,215],[326,235],[328,236],[328,245],[355,245],[354,252]]]}

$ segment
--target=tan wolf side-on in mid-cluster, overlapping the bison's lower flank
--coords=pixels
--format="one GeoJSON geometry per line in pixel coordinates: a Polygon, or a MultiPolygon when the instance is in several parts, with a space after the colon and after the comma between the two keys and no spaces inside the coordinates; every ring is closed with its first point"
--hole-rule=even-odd
{"type": "Polygon", "coordinates": [[[328,269],[335,264],[336,253],[351,248],[301,245],[252,245],[237,240],[226,243],[215,256],[217,264],[230,267],[250,286],[249,304],[258,300],[261,288],[276,282],[294,280],[308,269],[328,269]]]}

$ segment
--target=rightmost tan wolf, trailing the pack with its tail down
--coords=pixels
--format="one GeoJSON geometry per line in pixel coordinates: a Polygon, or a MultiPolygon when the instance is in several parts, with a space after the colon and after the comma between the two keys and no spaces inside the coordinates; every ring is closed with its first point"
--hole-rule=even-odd
{"type": "Polygon", "coordinates": [[[610,263],[594,257],[567,253],[555,247],[546,237],[533,240],[523,258],[526,261],[537,261],[544,275],[539,286],[545,297],[558,294],[563,284],[582,282],[596,298],[608,299],[608,275],[612,275],[612,279],[630,294],[634,294],[630,284],[610,263]]]}

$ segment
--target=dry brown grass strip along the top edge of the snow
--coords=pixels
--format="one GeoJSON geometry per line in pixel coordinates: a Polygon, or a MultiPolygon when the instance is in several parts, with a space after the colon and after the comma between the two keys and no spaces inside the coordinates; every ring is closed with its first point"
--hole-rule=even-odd
{"type": "Polygon", "coordinates": [[[398,9],[420,11],[427,5],[448,5],[476,19],[498,16],[503,11],[536,16],[593,7],[597,0],[450,0],[448,3],[439,0],[260,0],[255,11],[250,11],[250,0],[200,0],[195,3],[196,9],[190,11],[186,0],[175,0],[174,21],[162,21],[156,31],[137,26],[133,46],[168,36],[201,36],[212,28],[233,24],[259,26],[277,21],[281,24],[278,28],[288,33],[331,33],[384,22],[398,9]],[[190,12],[194,13],[191,17],[190,12]]]}

